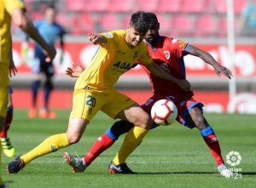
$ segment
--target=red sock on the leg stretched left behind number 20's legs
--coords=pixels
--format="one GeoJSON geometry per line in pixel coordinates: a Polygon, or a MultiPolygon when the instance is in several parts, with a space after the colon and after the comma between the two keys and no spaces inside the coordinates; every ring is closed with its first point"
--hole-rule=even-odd
{"type": "Polygon", "coordinates": [[[107,150],[114,142],[115,140],[109,138],[108,134],[102,134],[102,136],[96,140],[94,145],[90,147],[90,151],[85,155],[84,162],[86,165],[89,166],[96,157],[98,157],[103,151],[107,150]]]}

